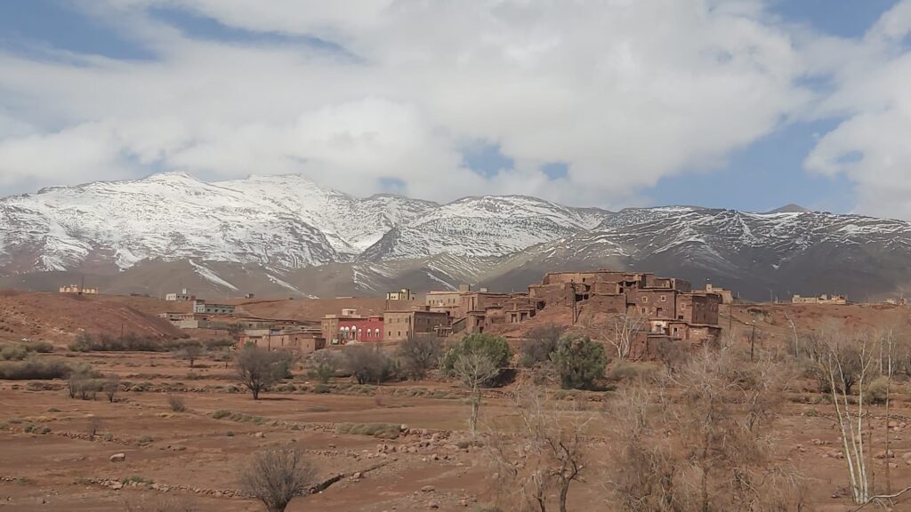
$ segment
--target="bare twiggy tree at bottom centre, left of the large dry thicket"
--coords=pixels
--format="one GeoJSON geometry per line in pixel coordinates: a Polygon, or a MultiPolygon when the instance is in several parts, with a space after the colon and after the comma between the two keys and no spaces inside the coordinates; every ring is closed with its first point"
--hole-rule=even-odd
{"type": "Polygon", "coordinates": [[[593,416],[551,403],[541,389],[519,389],[513,398],[522,418],[518,439],[495,432],[486,447],[503,480],[499,488],[516,498],[513,508],[539,512],[547,512],[548,497],[556,491],[558,509],[566,512],[569,487],[581,480],[587,466],[583,435],[593,416]]]}

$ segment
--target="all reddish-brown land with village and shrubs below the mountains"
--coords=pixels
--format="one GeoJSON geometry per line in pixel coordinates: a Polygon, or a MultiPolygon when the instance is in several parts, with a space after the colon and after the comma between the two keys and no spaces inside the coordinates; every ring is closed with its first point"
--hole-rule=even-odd
{"type": "Polygon", "coordinates": [[[291,511],[506,511],[529,496],[559,509],[566,485],[568,510],[644,512],[660,507],[622,504],[670,466],[674,499],[698,501],[687,489],[704,474],[711,501],[736,509],[722,492],[732,462],[681,446],[716,449],[760,421],[725,449],[751,475],[793,478],[740,496],[756,510],[848,512],[851,452],[832,399],[872,397],[865,470],[878,486],[911,476],[909,320],[901,298],[750,302],[645,271],[552,271],[524,292],[466,284],[324,299],[5,290],[0,449],[11,458],[0,460],[0,498],[10,510],[261,510],[240,475],[251,457],[291,445],[310,470],[291,511]],[[826,384],[824,354],[860,347],[863,383],[826,384]],[[496,364],[484,370],[471,351],[496,364]],[[257,384],[257,361],[281,373],[257,384]],[[34,373],[58,367],[68,374],[34,373]],[[550,453],[549,442],[571,449],[550,453]],[[630,458],[643,445],[660,457],[630,458]],[[536,495],[536,468],[563,463],[579,477],[548,474],[548,494],[536,495]],[[645,468],[633,483],[630,467],[645,468]]]}

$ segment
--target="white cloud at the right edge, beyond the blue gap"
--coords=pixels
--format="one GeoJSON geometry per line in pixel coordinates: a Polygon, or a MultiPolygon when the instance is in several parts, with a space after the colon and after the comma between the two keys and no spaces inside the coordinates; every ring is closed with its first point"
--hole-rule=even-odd
{"type": "Polygon", "coordinates": [[[824,39],[808,51],[834,90],[817,117],[846,117],[804,162],[856,183],[861,213],[911,219],[911,1],[887,11],[860,40],[824,39]]]}

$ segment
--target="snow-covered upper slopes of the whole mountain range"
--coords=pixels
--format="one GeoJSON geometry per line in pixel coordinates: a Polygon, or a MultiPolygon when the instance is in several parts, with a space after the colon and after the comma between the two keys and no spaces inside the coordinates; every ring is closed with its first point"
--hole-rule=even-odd
{"type": "MultiPolygon", "coordinates": [[[[394,281],[404,267],[393,262],[403,260],[425,261],[425,278],[448,286],[536,260],[551,269],[563,266],[560,261],[680,261],[745,276],[757,265],[786,272],[804,251],[869,244],[905,253],[911,224],[818,211],[671,206],[610,212],[527,196],[442,205],[392,194],[362,199],[300,175],[207,183],[161,173],[0,200],[0,272],[7,274],[101,263],[124,270],[156,259],[280,270],[351,262],[363,289],[373,290],[394,281]]],[[[287,290],[297,286],[274,279],[287,290]]]]}

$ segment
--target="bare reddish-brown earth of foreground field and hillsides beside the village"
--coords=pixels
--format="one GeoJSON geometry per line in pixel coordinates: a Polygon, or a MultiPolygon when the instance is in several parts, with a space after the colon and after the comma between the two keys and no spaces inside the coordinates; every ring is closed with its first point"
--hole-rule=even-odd
{"type": "MultiPolygon", "coordinates": [[[[237,303],[241,314],[302,320],[342,308],[369,313],[382,311],[385,306],[382,299],[237,303]]],[[[11,331],[0,330],[0,339],[67,340],[80,329],[118,333],[121,324],[129,332],[173,335],[166,331],[170,325],[162,325],[154,315],[174,311],[180,304],[109,295],[2,292],[0,326],[9,326],[11,331]]],[[[756,343],[774,350],[793,340],[789,318],[800,332],[833,322],[851,328],[895,327],[907,331],[909,310],[883,305],[738,304],[732,308],[730,324],[735,343],[742,349],[749,346],[755,322],[756,343]]],[[[552,309],[510,333],[521,336],[536,324],[560,321],[563,314],[552,309]]],[[[728,318],[723,309],[722,326],[727,327],[728,318]]],[[[76,354],[58,350],[53,355],[87,361],[104,374],[117,374],[131,391],[118,394],[118,402],[107,403],[100,395],[96,401],[68,399],[62,381],[46,381],[47,386],[0,381],[0,426],[4,427],[0,429],[0,510],[124,511],[127,503],[148,507],[173,497],[192,499],[205,511],[261,510],[259,504],[234,496],[237,473],[253,452],[285,443],[306,451],[321,481],[341,476],[322,492],[297,498],[289,507],[291,511],[429,510],[431,505],[439,510],[478,510],[496,494],[483,450],[459,449],[452,443],[466,438],[468,409],[465,392],[455,384],[385,384],[376,388],[377,392],[373,387],[349,387],[347,382],[338,381],[333,384],[333,393],[313,394],[313,383],[298,368],[294,372],[298,376],[291,382],[295,391],[265,394],[266,399],[254,402],[248,394],[235,392],[233,368],[214,361],[200,361],[190,370],[185,362],[175,361],[167,353],[76,354]],[[169,394],[182,398],[188,411],[172,412],[169,394]],[[219,410],[249,415],[246,419],[253,421],[214,419],[212,413],[219,410]],[[87,435],[90,417],[100,423],[93,439],[87,435]],[[335,430],[343,423],[374,422],[405,424],[408,430],[394,440],[341,435],[335,430]],[[29,430],[47,427],[49,431],[26,433],[30,425],[29,430]],[[150,441],[140,444],[144,436],[150,441]],[[117,453],[127,456],[124,463],[108,461],[117,453]],[[117,488],[116,482],[131,476],[154,485],[117,488]]],[[[527,378],[519,374],[517,380],[527,378]]],[[[839,448],[831,405],[814,404],[820,395],[813,383],[801,383],[797,388],[780,417],[774,456],[804,471],[809,478],[808,496],[816,510],[852,510],[844,496],[844,461],[833,456],[839,448]]],[[[488,392],[482,407],[484,424],[503,425],[515,419],[517,410],[503,395],[509,390],[488,392]]],[[[880,487],[889,462],[897,465],[891,468],[893,487],[911,482],[911,465],[906,462],[911,460],[907,458],[911,455],[906,456],[911,454],[909,392],[911,384],[899,384],[891,412],[893,421],[904,425],[892,433],[896,456],[872,461],[880,487]]],[[[577,399],[600,410],[615,393],[579,393],[577,399]]],[[[884,415],[880,406],[870,409],[875,451],[881,449],[884,415]]],[[[589,476],[585,483],[573,486],[571,510],[609,509],[604,502],[602,469],[610,464],[607,447],[618,439],[607,427],[609,418],[599,417],[601,423],[592,427],[597,435],[591,441],[589,476]]],[[[911,501],[899,503],[893,510],[911,510],[911,501]]]]}

